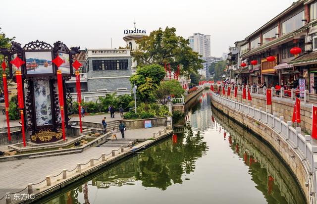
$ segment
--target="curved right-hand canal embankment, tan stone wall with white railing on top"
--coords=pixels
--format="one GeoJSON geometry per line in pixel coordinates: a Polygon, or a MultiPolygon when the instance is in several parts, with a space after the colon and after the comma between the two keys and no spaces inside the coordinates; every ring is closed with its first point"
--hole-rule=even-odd
{"type": "Polygon", "coordinates": [[[278,153],[295,175],[307,203],[315,204],[316,153],[314,153],[315,147],[309,141],[310,138],[301,135],[300,128],[296,130],[290,127],[291,124],[282,121],[282,117],[278,120],[275,115],[222,98],[214,93],[211,98],[214,108],[260,136],[278,153]]]}

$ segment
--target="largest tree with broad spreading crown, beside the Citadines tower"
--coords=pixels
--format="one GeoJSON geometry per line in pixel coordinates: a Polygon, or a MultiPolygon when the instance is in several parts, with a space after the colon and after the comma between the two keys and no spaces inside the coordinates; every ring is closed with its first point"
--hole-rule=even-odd
{"type": "Polygon", "coordinates": [[[149,64],[164,65],[169,63],[171,69],[176,71],[177,65],[181,64],[180,72],[189,76],[190,73],[197,73],[203,68],[204,60],[201,55],[193,51],[188,45],[189,40],[175,34],[175,28],[166,27],[165,30],[152,31],[149,36],[137,40],[138,49],[131,52],[131,56],[141,66],[149,64]]]}

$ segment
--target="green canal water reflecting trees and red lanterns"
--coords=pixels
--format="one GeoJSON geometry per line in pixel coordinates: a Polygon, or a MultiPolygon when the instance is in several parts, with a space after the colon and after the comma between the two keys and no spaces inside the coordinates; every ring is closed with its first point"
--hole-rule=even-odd
{"type": "Polygon", "coordinates": [[[174,134],[40,203],[306,203],[283,161],[211,108],[208,92],[175,122],[174,134]]]}

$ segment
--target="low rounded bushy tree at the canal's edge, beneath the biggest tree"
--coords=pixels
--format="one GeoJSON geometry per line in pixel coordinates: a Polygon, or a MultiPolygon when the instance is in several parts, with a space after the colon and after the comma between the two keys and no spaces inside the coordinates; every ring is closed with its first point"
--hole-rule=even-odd
{"type": "Polygon", "coordinates": [[[155,98],[159,100],[162,105],[170,101],[169,96],[180,97],[184,94],[184,89],[176,80],[163,81],[159,88],[153,92],[155,98]]]}

